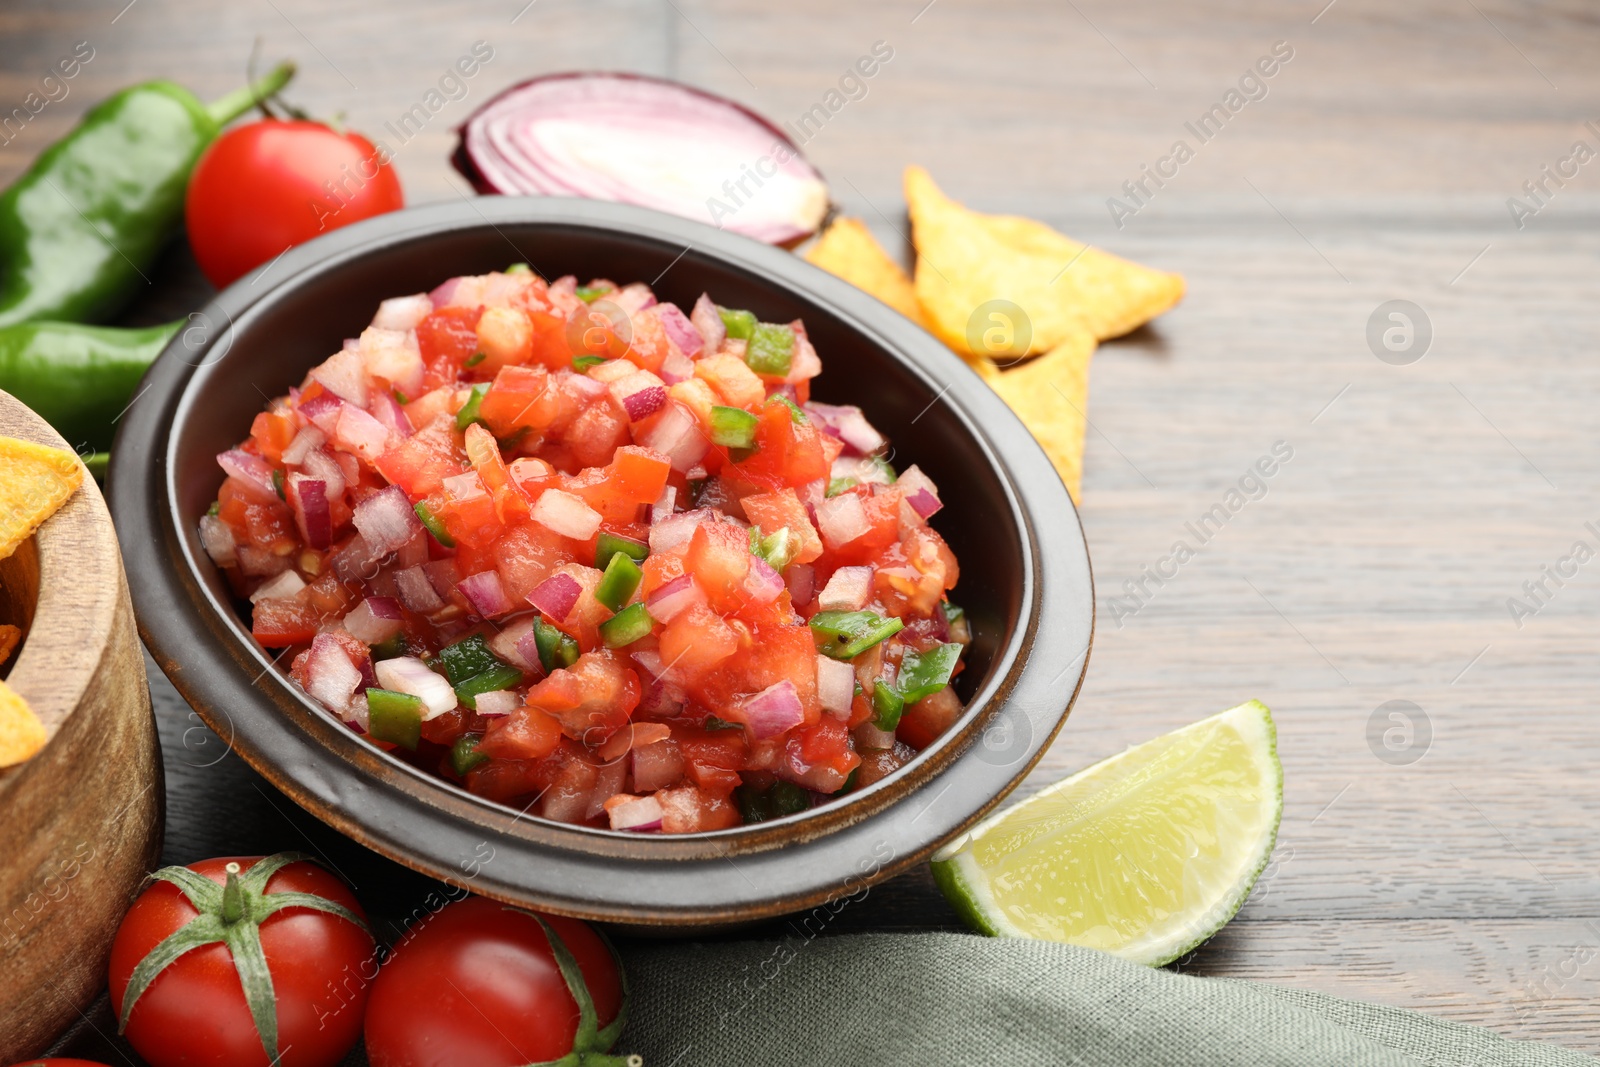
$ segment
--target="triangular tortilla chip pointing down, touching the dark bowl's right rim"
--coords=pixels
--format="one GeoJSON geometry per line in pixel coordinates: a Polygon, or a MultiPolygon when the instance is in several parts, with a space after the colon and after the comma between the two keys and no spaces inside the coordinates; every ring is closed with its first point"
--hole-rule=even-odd
{"type": "Polygon", "coordinates": [[[1043,446],[1056,474],[1067,483],[1074,504],[1083,488],[1083,432],[1090,403],[1090,357],[1094,341],[1083,334],[1051,349],[1037,360],[1003,371],[981,360],[978,373],[1000,394],[1043,446]]]}

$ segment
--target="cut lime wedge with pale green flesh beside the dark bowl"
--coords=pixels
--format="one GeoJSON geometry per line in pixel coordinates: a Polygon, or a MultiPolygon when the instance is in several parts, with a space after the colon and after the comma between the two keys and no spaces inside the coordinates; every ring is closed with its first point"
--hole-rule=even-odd
{"type": "Polygon", "coordinates": [[[1170,963],[1250,896],[1283,814],[1259,701],[1134,745],[1003,808],[933,856],[974,929],[1170,963]]]}

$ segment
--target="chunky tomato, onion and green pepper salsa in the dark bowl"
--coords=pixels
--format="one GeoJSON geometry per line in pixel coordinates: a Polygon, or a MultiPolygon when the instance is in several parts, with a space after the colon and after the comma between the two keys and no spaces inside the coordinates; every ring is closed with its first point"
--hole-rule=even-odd
{"type": "Polygon", "coordinates": [[[805,325],[525,266],[378,307],[218,456],[200,537],[368,742],[560,822],[826,803],[962,712],[939,490],[805,325]]]}

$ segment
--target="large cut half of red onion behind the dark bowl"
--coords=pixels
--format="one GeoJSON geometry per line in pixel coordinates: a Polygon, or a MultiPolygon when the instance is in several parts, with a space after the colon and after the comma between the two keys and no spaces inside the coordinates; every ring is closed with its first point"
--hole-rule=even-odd
{"type": "Polygon", "coordinates": [[[822,176],[782,130],[720,96],[632,74],[557,74],[506,90],[467,118],[454,165],[478,192],[634,203],[773,245],[814,234],[827,213],[822,176]]]}

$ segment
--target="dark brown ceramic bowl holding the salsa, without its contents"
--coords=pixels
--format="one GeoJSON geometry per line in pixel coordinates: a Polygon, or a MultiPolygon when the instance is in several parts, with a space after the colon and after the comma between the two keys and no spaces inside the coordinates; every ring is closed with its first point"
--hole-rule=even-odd
{"type": "Polygon", "coordinates": [[[110,506],[139,630],[205,721],[301,806],[429,875],[509,902],[638,925],[717,925],[816,907],[923,859],[1000,801],[1066,720],[1093,630],[1077,512],[1043,451],[960,358],[797,256],[592,200],[485,197],[334,230],[216,298],[123,419],[110,506]],[[941,486],[974,633],[966,710],[907,766],[843,801],[754,827],[656,837],[522,814],[402,763],[333,721],[250,637],[197,537],[214,456],[267,397],[360,333],[387,296],[525,261],[547,278],[702,291],[803,318],[821,400],[858,403],[899,462],[941,486]]]}

